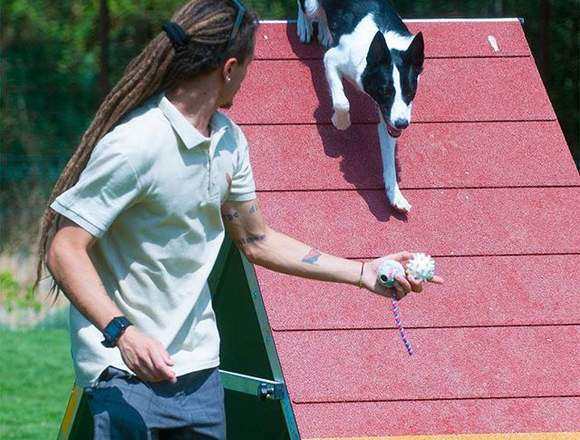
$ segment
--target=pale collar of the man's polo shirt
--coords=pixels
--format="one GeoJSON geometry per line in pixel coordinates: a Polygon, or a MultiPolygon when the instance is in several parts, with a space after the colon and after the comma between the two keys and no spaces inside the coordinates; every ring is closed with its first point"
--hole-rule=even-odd
{"type": "Polygon", "coordinates": [[[216,112],[212,115],[210,121],[211,135],[210,137],[205,137],[185,118],[185,116],[183,116],[177,107],[167,99],[164,93],[161,94],[158,107],[188,150],[202,144],[210,145],[212,149],[215,149],[215,146],[227,130],[227,126],[222,126],[222,124],[219,123],[220,120],[216,117],[216,112]]]}

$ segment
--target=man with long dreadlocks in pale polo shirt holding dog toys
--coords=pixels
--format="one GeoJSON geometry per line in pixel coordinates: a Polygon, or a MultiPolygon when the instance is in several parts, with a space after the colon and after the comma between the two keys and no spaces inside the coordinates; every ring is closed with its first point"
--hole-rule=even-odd
{"type": "MultiPolygon", "coordinates": [[[[95,438],[225,438],[207,285],[224,226],[254,264],[387,295],[382,259],[322,254],[262,218],[246,139],[217,111],[239,90],[256,27],[238,1],[187,3],[129,64],[51,195],[38,279],[46,260],[72,303],[95,438]]],[[[401,276],[396,289],[422,286],[401,276]]]]}

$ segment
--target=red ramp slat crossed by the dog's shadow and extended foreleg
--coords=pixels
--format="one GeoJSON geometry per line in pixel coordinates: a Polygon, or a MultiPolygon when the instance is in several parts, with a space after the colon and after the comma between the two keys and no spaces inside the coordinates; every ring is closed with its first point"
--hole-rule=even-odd
{"type": "MultiPolygon", "coordinates": [[[[375,125],[346,132],[251,125],[244,132],[259,190],[384,188],[375,125]]],[[[401,188],[580,185],[556,121],[413,124],[399,138],[397,163],[401,188]]]]}

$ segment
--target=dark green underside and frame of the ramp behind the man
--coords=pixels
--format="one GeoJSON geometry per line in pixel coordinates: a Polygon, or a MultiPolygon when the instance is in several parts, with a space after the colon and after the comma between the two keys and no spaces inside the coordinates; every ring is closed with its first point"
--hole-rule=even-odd
{"type": "MultiPolygon", "coordinates": [[[[228,440],[299,440],[254,267],[226,238],[208,280],[221,337],[228,440]]],[[[73,386],[58,440],[92,438],[82,388],[73,386]]]]}

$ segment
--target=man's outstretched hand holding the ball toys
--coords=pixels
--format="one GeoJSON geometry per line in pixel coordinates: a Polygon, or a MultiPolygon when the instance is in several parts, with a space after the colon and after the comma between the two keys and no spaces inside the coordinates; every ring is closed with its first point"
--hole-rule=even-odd
{"type": "MultiPolygon", "coordinates": [[[[407,267],[407,263],[413,258],[410,252],[399,252],[397,254],[387,255],[386,257],[377,258],[365,264],[364,273],[362,277],[362,284],[368,290],[379,295],[391,297],[391,289],[383,286],[378,282],[379,267],[385,260],[395,260],[407,267]]],[[[434,276],[430,281],[435,284],[442,284],[443,278],[434,276]]],[[[409,292],[420,293],[423,291],[423,283],[417,281],[411,275],[395,277],[395,286],[393,287],[397,292],[397,299],[403,299],[409,292]]]]}

